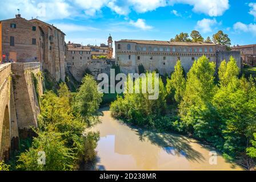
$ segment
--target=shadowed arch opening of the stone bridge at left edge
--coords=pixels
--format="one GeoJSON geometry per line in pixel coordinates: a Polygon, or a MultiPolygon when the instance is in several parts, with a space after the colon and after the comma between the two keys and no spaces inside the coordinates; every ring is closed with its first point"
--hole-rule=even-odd
{"type": "Polygon", "coordinates": [[[9,108],[7,105],[5,107],[4,117],[2,121],[2,133],[0,137],[1,137],[0,156],[2,156],[2,159],[0,157],[0,160],[7,160],[10,158],[10,146],[11,146],[10,118],[9,118],[9,108]]]}

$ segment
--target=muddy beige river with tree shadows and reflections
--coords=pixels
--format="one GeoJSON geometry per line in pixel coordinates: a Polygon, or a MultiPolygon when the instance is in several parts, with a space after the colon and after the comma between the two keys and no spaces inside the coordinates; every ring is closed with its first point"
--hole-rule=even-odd
{"type": "Polygon", "coordinates": [[[109,108],[100,111],[102,123],[92,129],[101,134],[96,148],[96,169],[242,170],[219,154],[214,158],[210,153],[214,148],[195,139],[132,128],[112,118],[109,108]],[[215,161],[217,164],[210,164],[215,161]]]}

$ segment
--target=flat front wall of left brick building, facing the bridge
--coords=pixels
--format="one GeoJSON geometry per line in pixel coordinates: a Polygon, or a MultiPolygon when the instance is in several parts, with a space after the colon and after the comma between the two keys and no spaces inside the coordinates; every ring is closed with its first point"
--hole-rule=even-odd
{"type": "Polygon", "coordinates": [[[42,62],[41,31],[21,15],[0,21],[0,62],[42,62]]]}

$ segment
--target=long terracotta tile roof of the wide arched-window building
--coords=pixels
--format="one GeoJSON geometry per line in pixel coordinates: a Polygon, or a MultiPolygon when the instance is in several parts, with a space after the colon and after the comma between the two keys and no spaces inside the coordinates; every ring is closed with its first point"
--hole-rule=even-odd
{"type": "Polygon", "coordinates": [[[209,42],[170,42],[170,41],[160,41],[160,40],[128,40],[123,39],[117,42],[130,42],[137,44],[152,44],[152,45],[162,45],[162,46],[215,46],[214,43],[209,42]]]}

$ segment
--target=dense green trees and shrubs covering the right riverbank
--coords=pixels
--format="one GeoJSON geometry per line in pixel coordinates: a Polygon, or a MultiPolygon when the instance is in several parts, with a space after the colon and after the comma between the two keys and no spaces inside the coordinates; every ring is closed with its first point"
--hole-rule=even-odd
{"type": "Polygon", "coordinates": [[[228,63],[222,61],[218,79],[215,64],[205,56],[194,62],[186,77],[178,61],[166,86],[159,80],[158,100],[148,100],[147,94],[126,93],[111,104],[110,110],[127,123],[187,133],[211,143],[226,159],[252,169],[256,86],[254,78],[238,75],[233,57],[228,63]],[[167,101],[170,106],[166,106],[167,101]]]}

